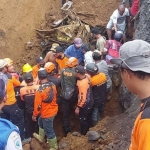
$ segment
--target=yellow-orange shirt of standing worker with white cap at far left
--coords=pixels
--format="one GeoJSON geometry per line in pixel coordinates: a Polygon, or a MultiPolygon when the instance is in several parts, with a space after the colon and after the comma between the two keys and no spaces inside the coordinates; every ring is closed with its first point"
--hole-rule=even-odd
{"type": "Polygon", "coordinates": [[[15,97],[14,87],[20,86],[20,82],[12,75],[6,74],[8,82],[6,86],[7,101],[5,105],[13,105],[17,100],[15,97]]]}

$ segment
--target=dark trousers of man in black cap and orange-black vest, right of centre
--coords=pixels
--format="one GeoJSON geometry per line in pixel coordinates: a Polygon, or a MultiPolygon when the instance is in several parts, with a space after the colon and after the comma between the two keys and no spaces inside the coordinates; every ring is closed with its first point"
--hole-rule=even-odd
{"type": "Polygon", "coordinates": [[[87,131],[90,128],[91,124],[91,115],[92,115],[93,102],[89,102],[84,108],[80,108],[79,119],[80,119],[80,130],[81,135],[86,135],[87,131]]]}

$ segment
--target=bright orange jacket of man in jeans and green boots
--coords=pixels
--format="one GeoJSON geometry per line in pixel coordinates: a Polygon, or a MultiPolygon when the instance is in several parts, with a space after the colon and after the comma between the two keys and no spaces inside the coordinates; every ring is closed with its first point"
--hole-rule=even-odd
{"type": "Polygon", "coordinates": [[[37,117],[38,114],[41,114],[41,118],[50,118],[53,117],[57,114],[58,111],[58,105],[56,103],[56,86],[53,84],[53,92],[54,92],[54,98],[52,102],[50,103],[45,103],[43,100],[45,100],[48,97],[48,94],[50,93],[50,88],[43,88],[44,84],[40,85],[38,91],[35,93],[35,100],[34,100],[34,112],[33,116],[37,117]],[[40,111],[38,110],[40,106],[40,111]]]}

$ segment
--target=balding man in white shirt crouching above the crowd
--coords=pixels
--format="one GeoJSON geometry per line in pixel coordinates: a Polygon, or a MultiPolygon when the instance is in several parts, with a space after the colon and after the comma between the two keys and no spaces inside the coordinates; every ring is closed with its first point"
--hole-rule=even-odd
{"type": "MultiPolygon", "coordinates": [[[[130,28],[130,14],[129,10],[125,8],[124,5],[119,5],[118,9],[116,9],[110,17],[110,20],[107,24],[107,34],[109,40],[112,38],[112,28],[114,28],[115,32],[122,31],[125,33],[126,28],[126,19],[128,21],[128,28],[130,28]]],[[[124,35],[124,42],[126,41],[124,35]]]]}

